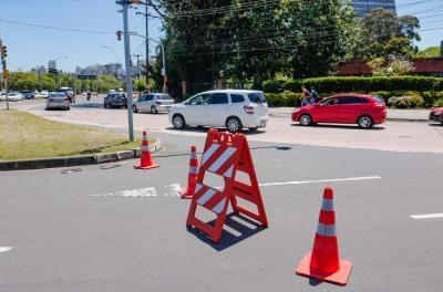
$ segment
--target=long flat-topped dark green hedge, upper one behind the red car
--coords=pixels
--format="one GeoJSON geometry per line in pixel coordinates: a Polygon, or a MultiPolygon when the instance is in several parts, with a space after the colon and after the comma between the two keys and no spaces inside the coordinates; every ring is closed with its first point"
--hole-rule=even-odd
{"type": "Polygon", "coordinates": [[[442,77],[318,77],[305,80],[268,80],[262,88],[268,93],[301,92],[301,85],[313,86],[319,93],[377,92],[377,91],[443,91],[442,77]]]}

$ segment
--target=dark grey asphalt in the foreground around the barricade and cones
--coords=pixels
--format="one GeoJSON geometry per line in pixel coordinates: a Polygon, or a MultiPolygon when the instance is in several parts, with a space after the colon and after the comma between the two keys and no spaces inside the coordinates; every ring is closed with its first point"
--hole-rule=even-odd
{"type": "Polygon", "coordinates": [[[443,212],[441,154],[253,142],[269,228],[234,216],[213,244],[185,228],[189,201],[176,196],[203,138],[157,135],[150,171],[127,160],[2,173],[0,291],[441,291],[443,218],[410,217],[443,212]],[[293,272],[326,186],[353,262],[346,288],[293,272]]]}

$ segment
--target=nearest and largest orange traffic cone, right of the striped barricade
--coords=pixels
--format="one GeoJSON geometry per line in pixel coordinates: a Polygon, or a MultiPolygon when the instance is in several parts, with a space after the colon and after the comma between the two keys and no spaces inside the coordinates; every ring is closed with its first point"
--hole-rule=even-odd
{"type": "Polygon", "coordinates": [[[351,269],[351,262],[340,260],[336,234],[333,190],[326,188],[312,252],[305,255],[296,273],[333,284],[346,285],[351,269]]]}

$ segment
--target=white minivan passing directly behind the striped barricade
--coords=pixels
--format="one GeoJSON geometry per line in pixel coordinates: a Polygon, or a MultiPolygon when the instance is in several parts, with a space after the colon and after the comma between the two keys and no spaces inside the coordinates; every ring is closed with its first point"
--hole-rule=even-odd
{"type": "Polygon", "coordinates": [[[265,127],[268,119],[268,104],[260,91],[208,91],[169,108],[169,122],[176,129],[187,125],[210,126],[236,133],[265,127]]]}

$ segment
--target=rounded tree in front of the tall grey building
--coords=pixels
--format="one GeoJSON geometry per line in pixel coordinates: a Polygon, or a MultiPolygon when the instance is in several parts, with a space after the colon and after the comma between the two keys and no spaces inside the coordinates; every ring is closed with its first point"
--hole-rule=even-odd
{"type": "Polygon", "coordinates": [[[356,56],[363,60],[374,58],[411,58],[418,52],[414,41],[420,21],[415,17],[396,17],[395,12],[374,9],[360,21],[361,33],[356,56]]]}

